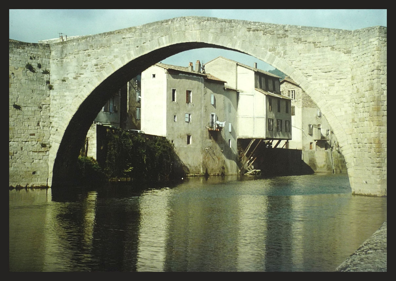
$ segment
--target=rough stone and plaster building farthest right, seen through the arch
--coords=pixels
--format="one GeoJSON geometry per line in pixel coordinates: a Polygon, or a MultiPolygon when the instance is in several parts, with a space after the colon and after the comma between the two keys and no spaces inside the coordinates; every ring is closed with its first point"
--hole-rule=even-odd
{"type": "MultiPolygon", "coordinates": [[[[346,171],[338,142],[326,118],[312,99],[289,77],[280,81],[282,95],[291,98],[290,149],[301,149],[303,160],[315,171],[346,171]],[[328,152],[328,153],[325,153],[328,152]],[[336,151],[330,155],[330,151],[336,151]]],[[[282,145],[282,143],[281,143],[282,145]]]]}

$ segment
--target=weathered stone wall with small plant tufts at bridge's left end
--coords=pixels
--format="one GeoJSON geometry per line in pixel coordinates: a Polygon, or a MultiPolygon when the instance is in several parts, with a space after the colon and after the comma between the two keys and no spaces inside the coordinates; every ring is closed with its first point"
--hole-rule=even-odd
{"type": "Polygon", "coordinates": [[[51,68],[50,54],[49,45],[10,40],[9,183],[13,186],[47,185],[50,74],[43,71],[51,68]]]}

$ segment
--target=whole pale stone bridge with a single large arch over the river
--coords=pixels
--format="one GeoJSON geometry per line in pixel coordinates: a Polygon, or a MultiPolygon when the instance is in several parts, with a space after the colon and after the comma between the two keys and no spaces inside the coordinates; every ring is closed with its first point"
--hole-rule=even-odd
{"type": "Polygon", "coordinates": [[[181,51],[217,47],[252,55],[299,84],[333,128],[352,193],[386,196],[386,41],[382,26],[351,31],[208,17],[49,44],[10,40],[9,183],[68,181],[111,89],[181,51]]]}

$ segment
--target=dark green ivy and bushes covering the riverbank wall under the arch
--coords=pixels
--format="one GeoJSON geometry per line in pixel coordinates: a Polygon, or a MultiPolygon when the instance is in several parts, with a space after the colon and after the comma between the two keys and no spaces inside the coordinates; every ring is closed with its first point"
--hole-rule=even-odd
{"type": "Polygon", "coordinates": [[[166,182],[185,177],[173,145],[165,138],[107,129],[106,161],[100,164],[87,155],[87,140],[78,157],[78,184],[96,185],[108,179],[126,178],[139,182],[166,182]]]}

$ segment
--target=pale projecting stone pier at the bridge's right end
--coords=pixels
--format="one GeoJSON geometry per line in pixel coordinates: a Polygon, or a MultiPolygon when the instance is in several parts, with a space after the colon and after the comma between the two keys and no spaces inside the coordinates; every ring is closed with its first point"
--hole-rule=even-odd
{"type": "Polygon", "coordinates": [[[352,193],[386,196],[387,29],[356,30],[352,53],[352,193]]]}

